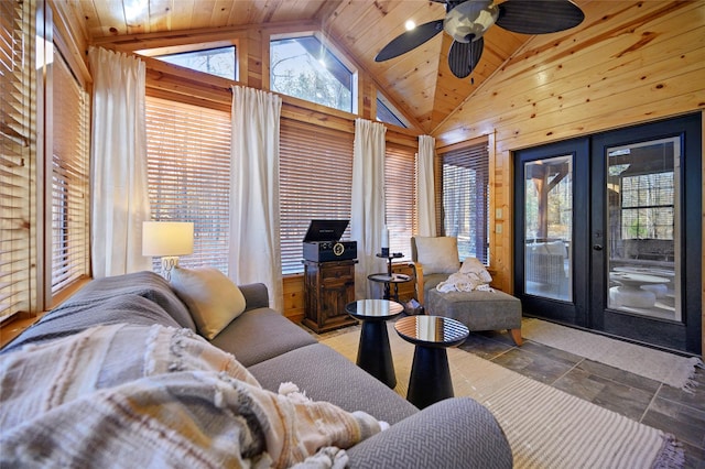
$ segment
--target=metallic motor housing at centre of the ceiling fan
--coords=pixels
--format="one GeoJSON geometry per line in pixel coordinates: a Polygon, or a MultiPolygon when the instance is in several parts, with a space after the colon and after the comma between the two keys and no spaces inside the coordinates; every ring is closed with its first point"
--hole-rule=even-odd
{"type": "Polygon", "coordinates": [[[467,0],[446,14],[443,29],[457,42],[468,43],[482,37],[498,15],[492,0],[467,0]]]}

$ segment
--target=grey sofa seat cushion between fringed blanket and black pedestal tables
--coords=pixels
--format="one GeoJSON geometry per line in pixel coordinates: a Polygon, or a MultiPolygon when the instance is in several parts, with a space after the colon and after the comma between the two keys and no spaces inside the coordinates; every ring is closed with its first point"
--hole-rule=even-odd
{"type": "Polygon", "coordinates": [[[409,401],[323,343],[302,347],[249,368],[264,389],[291,381],[314,401],[362,411],[394,424],[419,412],[409,401]]]}

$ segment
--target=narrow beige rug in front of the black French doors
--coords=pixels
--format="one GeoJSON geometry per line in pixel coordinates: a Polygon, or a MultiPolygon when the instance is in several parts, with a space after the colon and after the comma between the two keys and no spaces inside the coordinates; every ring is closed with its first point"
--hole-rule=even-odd
{"type": "Polygon", "coordinates": [[[534,342],[682,390],[692,385],[695,368],[703,364],[696,357],[680,357],[535,318],[522,321],[521,335],[534,342]]]}

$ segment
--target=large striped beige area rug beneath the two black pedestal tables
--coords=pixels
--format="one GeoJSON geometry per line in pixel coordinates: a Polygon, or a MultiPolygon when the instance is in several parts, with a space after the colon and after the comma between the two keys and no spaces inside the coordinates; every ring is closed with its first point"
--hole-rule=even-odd
{"type": "MultiPolygon", "coordinates": [[[[398,385],[406,394],[413,346],[389,334],[398,385]]],[[[322,340],[355,361],[359,328],[322,340]]],[[[492,412],[512,449],[516,468],[682,467],[671,435],[505,369],[473,353],[448,349],[456,396],[492,412]]]]}

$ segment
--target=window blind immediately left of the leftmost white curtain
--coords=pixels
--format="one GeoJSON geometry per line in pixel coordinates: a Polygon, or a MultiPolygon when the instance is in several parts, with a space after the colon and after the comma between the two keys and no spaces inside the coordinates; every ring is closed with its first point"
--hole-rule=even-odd
{"type": "Polygon", "coordinates": [[[52,294],[89,275],[88,96],[54,54],[52,294]]]}

